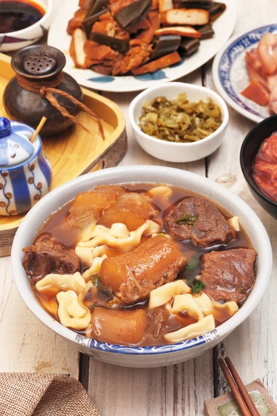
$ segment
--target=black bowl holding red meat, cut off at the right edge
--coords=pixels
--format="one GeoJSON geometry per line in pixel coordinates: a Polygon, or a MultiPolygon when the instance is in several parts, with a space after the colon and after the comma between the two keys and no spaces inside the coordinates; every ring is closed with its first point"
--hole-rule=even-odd
{"type": "Polygon", "coordinates": [[[240,150],[240,166],[254,198],[271,216],[277,218],[277,202],[263,193],[253,178],[253,162],[262,141],[277,131],[277,114],[261,121],[245,137],[240,150]]]}

